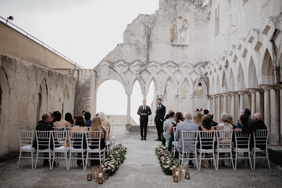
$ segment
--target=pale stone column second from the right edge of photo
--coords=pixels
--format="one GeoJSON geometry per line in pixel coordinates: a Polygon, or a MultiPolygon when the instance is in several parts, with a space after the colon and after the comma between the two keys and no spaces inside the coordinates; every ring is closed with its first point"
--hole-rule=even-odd
{"type": "Polygon", "coordinates": [[[264,112],[265,112],[265,125],[269,129],[269,144],[271,143],[271,122],[270,122],[270,90],[272,90],[272,85],[262,85],[262,89],[265,90],[264,95],[264,112]]]}

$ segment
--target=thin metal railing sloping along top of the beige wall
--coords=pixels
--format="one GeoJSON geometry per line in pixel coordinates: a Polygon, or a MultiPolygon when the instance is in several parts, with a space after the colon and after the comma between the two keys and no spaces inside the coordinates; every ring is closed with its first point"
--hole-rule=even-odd
{"type": "Polygon", "coordinates": [[[82,69],[85,69],[85,68],[81,67],[80,65],[78,65],[77,63],[75,63],[74,61],[72,61],[71,59],[69,59],[68,57],[66,57],[66,56],[64,56],[63,54],[61,54],[60,52],[56,51],[54,48],[51,48],[51,47],[48,46],[47,44],[43,43],[42,41],[38,40],[38,39],[35,38],[34,36],[30,35],[29,33],[25,32],[24,30],[22,30],[22,29],[19,28],[18,26],[12,24],[11,22],[7,21],[7,24],[6,24],[6,19],[5,19],[5,18],[3,18],[3,17],[1,17],[1,16],[0,16],[0,18],[2,18],[3,20],[5,20],[5,22],[3,22],[3,21],[0,19],[0,21],[1,21],[2,23],[4,23],[5,25],[9,26],[10,28],[13,28],[14,30],[16,30],[16,31],[20,32],[21,34],[27,36],[28,38],[30,38],[30,39],[33,40],[34,42],[36,42],[36,43],[42,45],[43,47],[49,49],[50,51],[54,52],[55,54],[57,54],[57,55],[63,57],[64,59],[66,59],[67,61],[69,61],[70,63],[72,63],[72,64],[74,65],[74,68],[75,68],[75,69],[76,69],[76,66],[78,66],[78,67],[80,67],[80,68],[82,68],[82,69]],[[8,23],[10,23],[11,26],[8,25],[8,23]]]}

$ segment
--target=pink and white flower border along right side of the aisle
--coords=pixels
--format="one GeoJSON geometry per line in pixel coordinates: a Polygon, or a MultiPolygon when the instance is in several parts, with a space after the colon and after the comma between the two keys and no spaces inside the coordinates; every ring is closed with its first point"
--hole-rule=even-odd
{"type": "Polygon", "coordinates": [[[174,157],[168,148],[162,144],[155,148],[156,155],[160,160],[160,167],[166,175],[172,175],[172,169],[179,166],[178,161],[174,160],[174,157]]]}

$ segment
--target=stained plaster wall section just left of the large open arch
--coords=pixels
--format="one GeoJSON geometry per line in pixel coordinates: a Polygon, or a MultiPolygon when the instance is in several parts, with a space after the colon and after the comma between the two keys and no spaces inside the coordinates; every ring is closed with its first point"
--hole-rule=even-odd
{"type": "Polygon", "coordinates": [[[91,113],[91,117],[96,114],[96,72],[94,70],[75,70],[69,69],[68,74],[76,78],[75,83],[75,100],[74,100],[74,116],[80,115],[81,110],[87,110],[91,113]]]}

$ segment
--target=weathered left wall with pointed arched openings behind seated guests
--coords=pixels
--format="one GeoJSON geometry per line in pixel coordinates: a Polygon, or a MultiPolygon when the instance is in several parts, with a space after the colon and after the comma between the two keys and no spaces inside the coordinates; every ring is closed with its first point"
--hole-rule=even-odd
{"type": "Polygon", "coordinates": [[[67,100],[65,104],[69,112],[73,113],[75,78],[6,54],[0,53],[0,57],[0,85],[1,88],[6,85],[5,88],[8,89],[8,91],[5,89],[5,93],[3,92],[1,96],[0,160],[2,161],[18,155],[18,130],[35,130],[40,83],[43,81],[42,90],[46,89],[45,94],[41,94],[40,117],[44,112],[62,110],[63,90],[66,85],[68,96],[65,98],[67,100]],[[6,83],[2,83],[3,80],[6,80],[6,83]],[[8,106],[4,101],[6,99],[8,106]],[[3,102],[5,106],[2,105],[3,102]]]}

